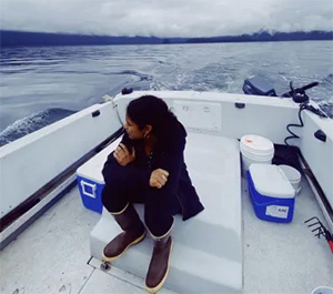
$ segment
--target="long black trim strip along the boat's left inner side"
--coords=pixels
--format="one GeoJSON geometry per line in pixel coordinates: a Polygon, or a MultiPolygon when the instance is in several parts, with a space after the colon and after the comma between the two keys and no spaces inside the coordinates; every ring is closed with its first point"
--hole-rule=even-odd
{"type": "Polygon", "coordinates": [[[115,141],[123,132],[124,132],[123,128],[119,129],[111,136],[105,139],[102,143],[97,145],[93,150],[88,152],[85,155],[83,155],[81,159],[79,159],[77,162],[74,162],[72,165],[70,165],[68,169],[65,169],[63,172],[58,174],[50,182],[48,182],[46,185],[39,189],[26,201],[23,201],[21,204],[19,204],[17,207],[10,211],[8,214],[2,216],[0,219],[0,232],[2,232],[16,220],[18,220],[22,214],[24,214],[27,211],[29,211],[31,207],[38,204],[42,199],[44,199],[50,193],[51,190],[53,190],[56,186],[59,186],[61,183],[63,183],[67,179],[69,179],[72,174],[75,173],[79,166],[81,166],[84,162],[87,162],[97,153],[99,153],[101,150],[103,150],[109,143],[115,141]]]}

